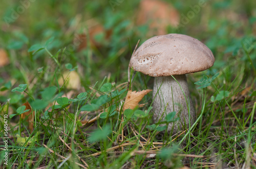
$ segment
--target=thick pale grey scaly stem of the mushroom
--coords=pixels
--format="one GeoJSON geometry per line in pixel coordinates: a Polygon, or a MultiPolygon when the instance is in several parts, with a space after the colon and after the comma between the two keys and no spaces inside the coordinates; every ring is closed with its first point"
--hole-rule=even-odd
{"type": "Polygon", "coordinates": [[[169,123],[167,131],[177,133],[182,129],[188,128],[189,120],[190,125],[192,125],[196,114],[188,91],[186,75],[174,75],[174,78],[172,76],[155,77],[153,99],[156,97],[153,102],[153,120],[155,123],[159,122],[159,120],[164,121],[164,117],[169,112],[176,111],[175,118],[179,117],[180,120],[169,123]],[[179,82],[180,86],[174,78],[179,82]]]}

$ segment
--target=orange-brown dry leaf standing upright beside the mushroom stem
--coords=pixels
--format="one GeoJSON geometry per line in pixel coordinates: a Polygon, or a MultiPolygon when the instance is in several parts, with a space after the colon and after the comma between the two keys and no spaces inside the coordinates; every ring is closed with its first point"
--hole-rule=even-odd
{"type": "Polygon", "coordinates": [[[134,109],[136,106],[138,106],[140,100],[148,93],[151,92],[152,90],[143,90],[140,92],[137,91],[128,91],[126,97],[125,97],[125,101],[123,104],[123,111],[130,108],[130,109],[134,109]]]}

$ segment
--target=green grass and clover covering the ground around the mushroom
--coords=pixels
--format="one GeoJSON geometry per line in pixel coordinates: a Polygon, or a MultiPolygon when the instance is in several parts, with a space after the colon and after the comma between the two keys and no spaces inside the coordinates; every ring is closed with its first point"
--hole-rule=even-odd
{"type": "MultiPolygon", "coordinates": [[[[35,1],[16,19],[21,2],[1,4],[0,48],[9,58],[0,67],[1,168],[255,168],[255,2],[207,1],[186,26],[167,28],[201,40],[216,59],[187,75],[197,123],[175,135],[152,127],[152,93],[123,116],[128,89],[153,89],[153,78],[127,72],[138,40],[153,35],[135,24],[139,2],[118,2],[35,1]],[[98,24],[104,29],[90,34],[98,24]],[[34,114],[21,107],[27,101],[34,114]]],[[[197,5],[173,4],[182,24],[197,5]]]]}

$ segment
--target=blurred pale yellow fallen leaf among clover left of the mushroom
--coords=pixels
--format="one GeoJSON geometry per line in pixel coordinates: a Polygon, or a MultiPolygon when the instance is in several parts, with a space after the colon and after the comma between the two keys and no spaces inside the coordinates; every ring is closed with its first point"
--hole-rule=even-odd
{"type": "MultiPolygon", "coordinates": [[[[63,73],[63,78],[65,80],[68,78],[65,83],[65,86],[67,89],[79,89],[81,87],[81,80],[76,71],[71,71],[71,72],[68,71],[63,73]]],[[[58,79],[59,86],[63,86],[64,84],[63,78],[62,76],[59,77],[58,79]]]]}

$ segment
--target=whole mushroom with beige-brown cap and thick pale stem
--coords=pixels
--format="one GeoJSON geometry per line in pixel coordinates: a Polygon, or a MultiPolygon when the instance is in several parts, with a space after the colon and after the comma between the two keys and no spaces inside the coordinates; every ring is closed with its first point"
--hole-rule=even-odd
{"type": "Polygon", "coordinates": [[[185,74],[206,70],[214,62],[211,50],[199,40],[167,34],[146,40],[132,55],[129,66],[155,77],[153,121],[164,121],[169,112],[175,111],[175,118],[180,120],[169,123],[167,131],[177,133],[186,129],[189,122],[193,124],[196,118],[185,74]]]}

